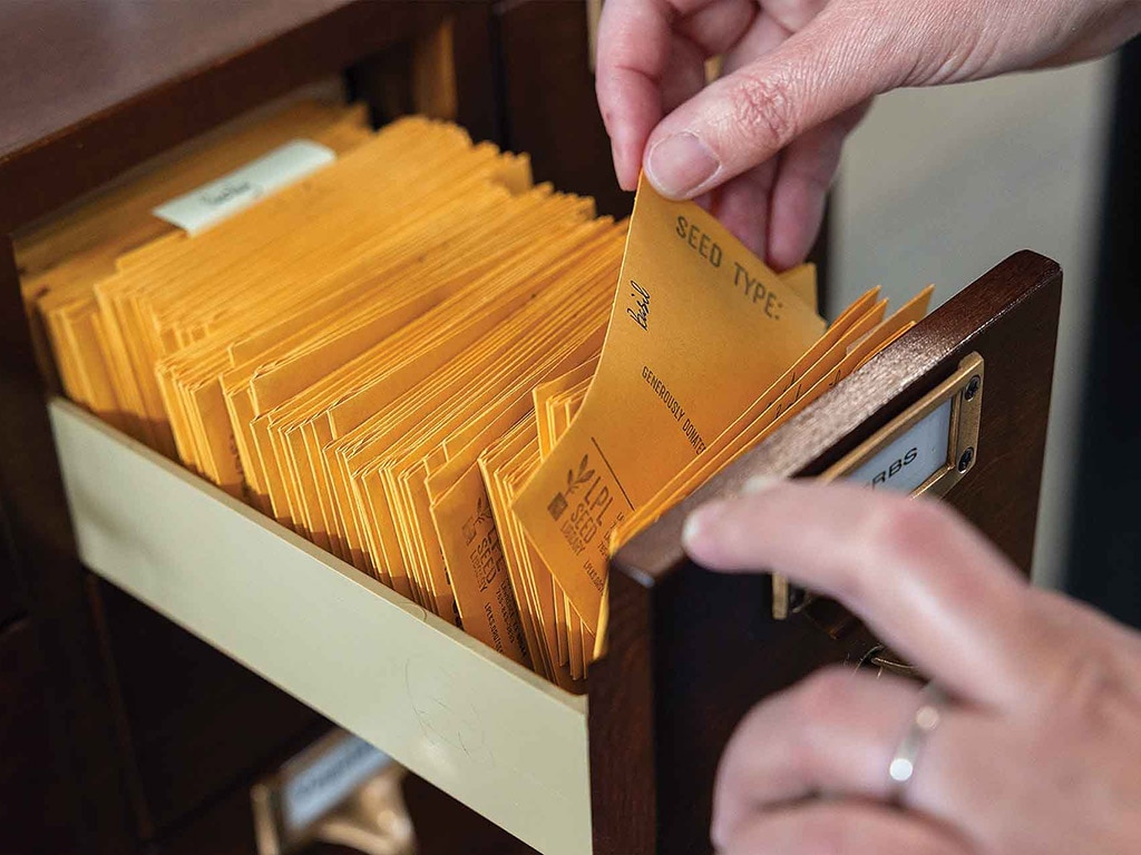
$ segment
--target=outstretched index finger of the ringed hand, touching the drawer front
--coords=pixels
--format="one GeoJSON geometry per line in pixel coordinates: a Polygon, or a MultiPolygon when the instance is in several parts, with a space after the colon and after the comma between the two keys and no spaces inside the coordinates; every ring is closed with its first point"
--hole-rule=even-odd
{"type": "Polygon", "coordinates": [[[705,567],[770,569],[840,600],[949,691],[1015,706],[1041,697],[1059,640],[1009,562],[946,506],[853,484],[780,482],[694,512],[705,567]]]}

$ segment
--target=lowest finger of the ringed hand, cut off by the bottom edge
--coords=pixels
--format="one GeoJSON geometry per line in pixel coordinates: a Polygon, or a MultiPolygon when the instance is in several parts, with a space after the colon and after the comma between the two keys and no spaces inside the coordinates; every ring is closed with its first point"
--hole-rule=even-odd
{"type": "Polygon", "coordinates": [[[719,855],[968,855],[950,831],[883,805],[814,803],[756,813],[719,855]]]}

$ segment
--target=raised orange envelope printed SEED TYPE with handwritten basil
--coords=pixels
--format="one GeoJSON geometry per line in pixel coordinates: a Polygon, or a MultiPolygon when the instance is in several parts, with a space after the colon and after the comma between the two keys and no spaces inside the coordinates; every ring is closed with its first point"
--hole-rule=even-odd
{"type": "Polygon", "coordinates": [[[825,323],[709,213],[642,180],[598,372],[513,507],[591,630],[612,529],[713,442],[825,323]]]}

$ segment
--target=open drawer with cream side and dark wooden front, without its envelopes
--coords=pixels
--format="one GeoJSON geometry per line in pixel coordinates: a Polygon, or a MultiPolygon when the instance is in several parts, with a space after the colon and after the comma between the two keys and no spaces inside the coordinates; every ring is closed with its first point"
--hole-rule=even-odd
{"type": "Polygon", "coordinates": [[[1011,256],[628,544],[589,705],[79,408],[49,406],[95,572],[545,855],[688,854],[710,848],[717,762],[748,707],[875,642],[842,614],[774,620],[767,578],[688,562],[686,513],[756,473],[825,472],[978,355],[976,456],[945,500],[1028,570],[1060,286],[1053,262],[1011,256]]]}

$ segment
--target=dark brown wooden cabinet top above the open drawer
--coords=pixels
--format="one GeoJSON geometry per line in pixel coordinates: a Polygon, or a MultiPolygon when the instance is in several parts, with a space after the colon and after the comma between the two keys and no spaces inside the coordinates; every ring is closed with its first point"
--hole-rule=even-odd
{"type": "MultiPolygon", "coordinates": [[[[448,15],[477,33],[471,22],[489,21],[489,8],[484,0],[13,0],[0,51],[0,228],[448,15]]],[[[486,49],[470,35],[460,41],[463,87],[486,92],[475,75],[486,49]]],[[[464,98],[461,120],[489,136],[485,112],[464,98]]]]}

